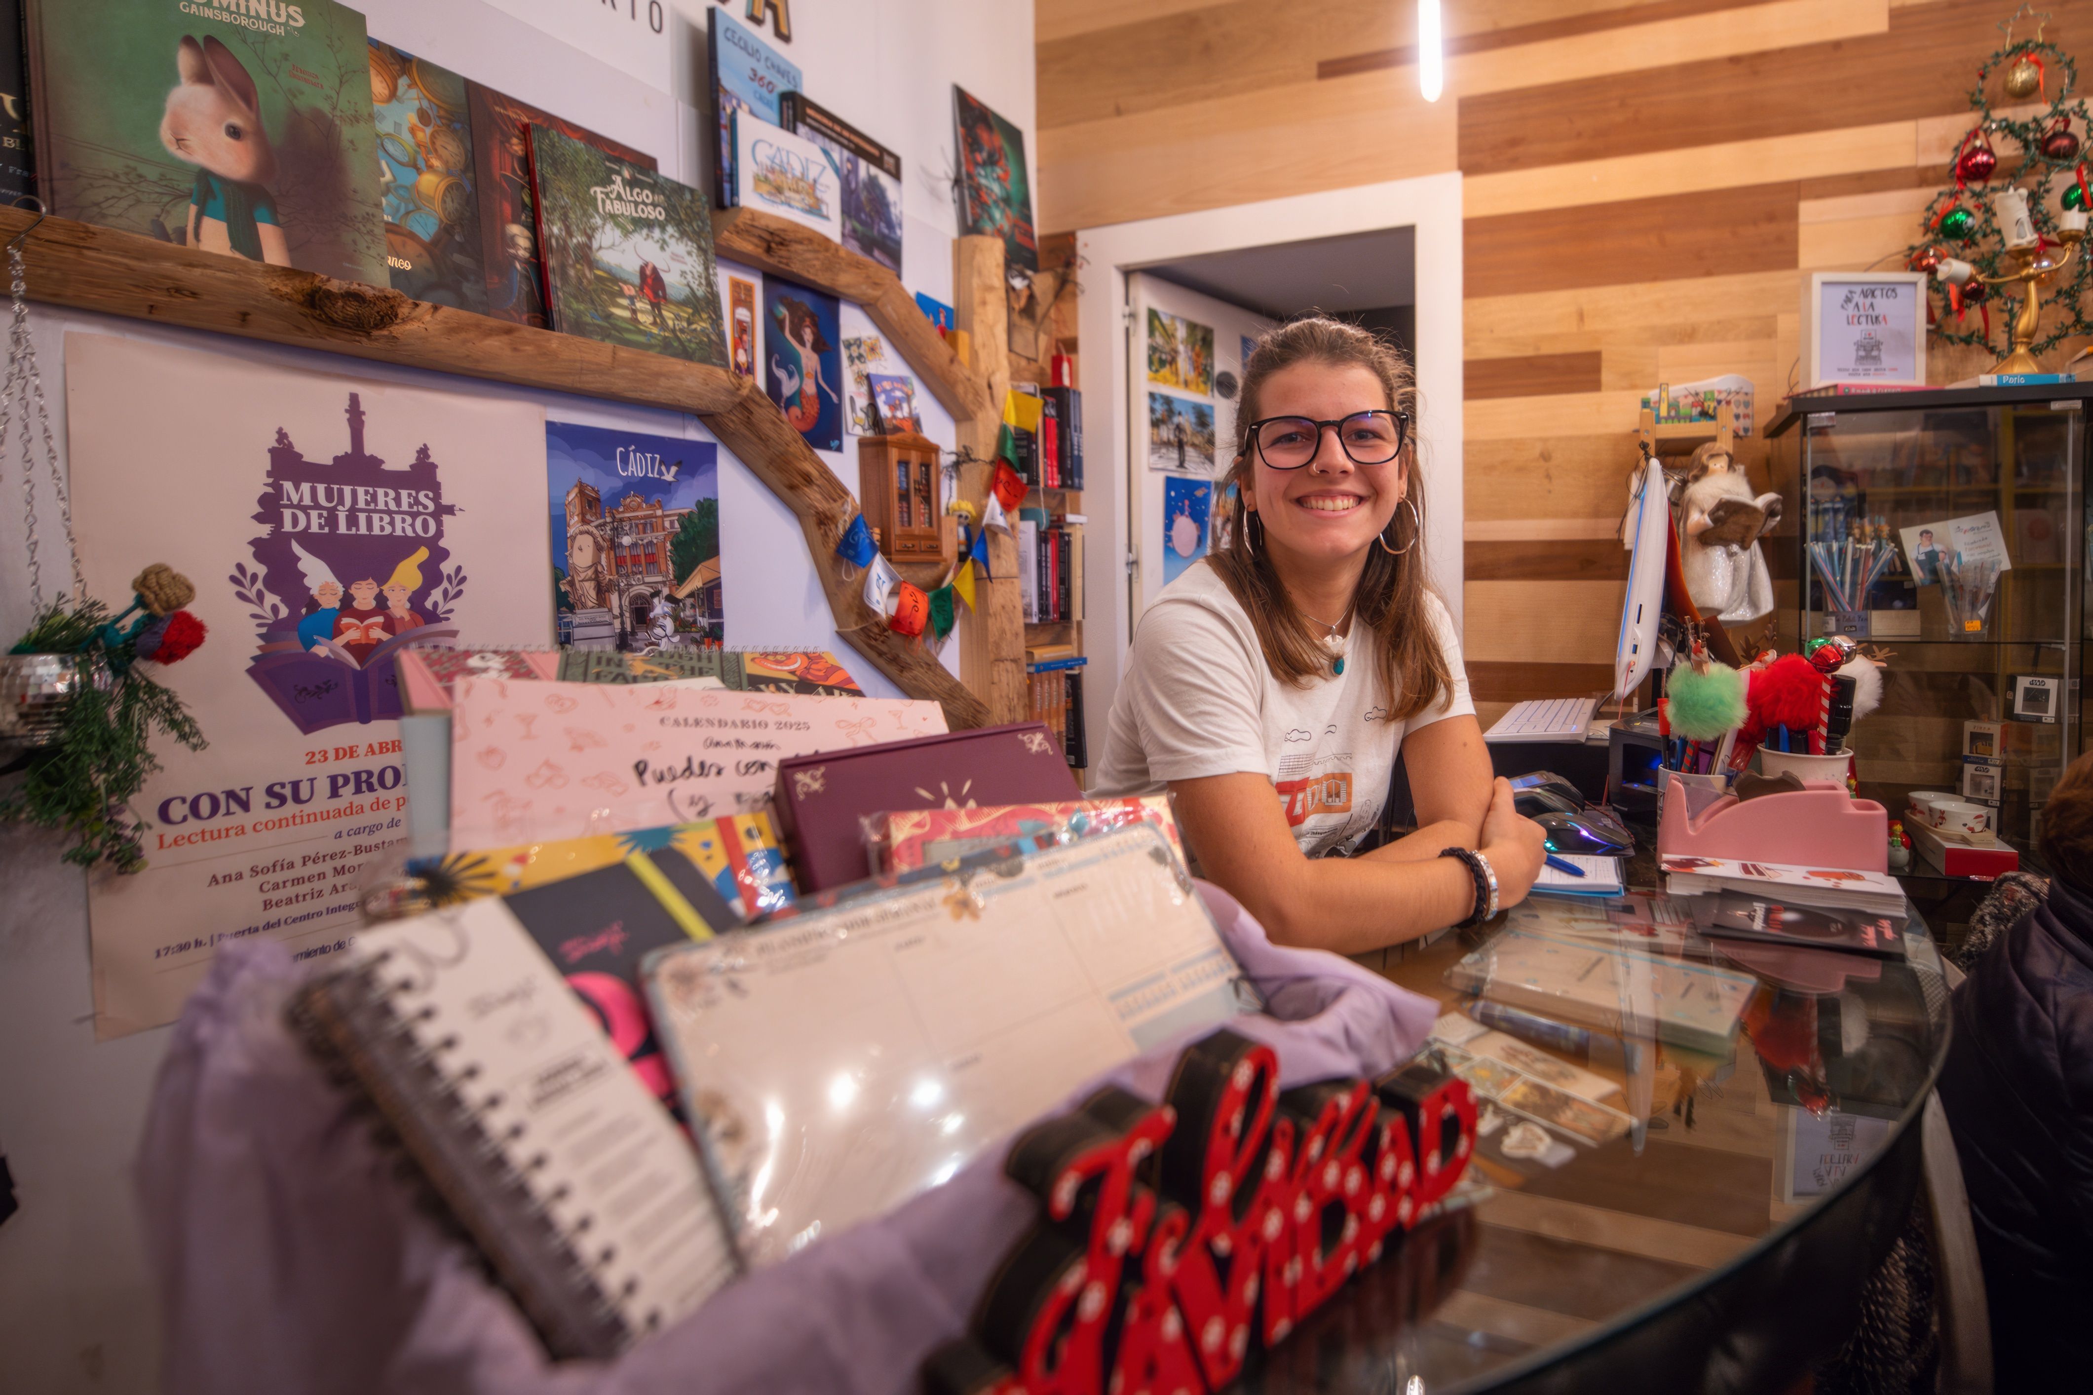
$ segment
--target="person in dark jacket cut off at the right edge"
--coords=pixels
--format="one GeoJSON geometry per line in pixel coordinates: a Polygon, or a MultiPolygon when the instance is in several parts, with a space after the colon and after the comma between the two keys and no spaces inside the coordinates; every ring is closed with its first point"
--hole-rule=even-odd
{"type": "Polygon", "coordinates": [[[2041,851],[2049,899],[1955,989],[1940,1073],[2001,1393],[2093,1382],[2093,753],[2043,807],[2041,851]]]}

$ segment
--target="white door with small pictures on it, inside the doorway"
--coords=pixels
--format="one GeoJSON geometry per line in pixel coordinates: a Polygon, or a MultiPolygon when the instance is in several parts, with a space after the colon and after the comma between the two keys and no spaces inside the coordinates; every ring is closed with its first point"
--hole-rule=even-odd
{"type": "Polygon", "coordinates": [[[1126,556],[1132,619],[1214,542],[1245,349],[1273,320],[1157,276],[1126,278],[1126,556]]]}

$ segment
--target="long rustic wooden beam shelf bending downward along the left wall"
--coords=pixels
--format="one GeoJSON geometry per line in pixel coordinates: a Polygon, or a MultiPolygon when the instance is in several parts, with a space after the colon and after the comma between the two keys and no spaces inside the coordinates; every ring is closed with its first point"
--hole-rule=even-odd
{"type": "MultiPolygon", "coordinates": [[[[0,209],[0,238],[31,224],[33,213],[0,209]]],[[[902,692],[938,701],[952,728],[988,722],[982,699],[921,644],[890,632],[883,617],[867,609],[856,584],[841,577],[835,542],[856,514],[856,500],[747,379],[63,218],[36,224],[23,243],[23,261],[29,293],[50,305],[693,412],[800,519],[837,634],[902,692]]],[[[1019,638],[1011,648],[1011,665],[1019,671],[1021,650],[1019,638]]]]}

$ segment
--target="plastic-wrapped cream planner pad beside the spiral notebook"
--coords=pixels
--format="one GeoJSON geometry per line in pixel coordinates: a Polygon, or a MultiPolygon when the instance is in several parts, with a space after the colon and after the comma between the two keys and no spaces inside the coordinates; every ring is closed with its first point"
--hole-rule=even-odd
{"type": "Polygon", "coordinates": [[[647,991],[751,1267],[1254,1000],[1147,826],[663,950],[647,991]]]}

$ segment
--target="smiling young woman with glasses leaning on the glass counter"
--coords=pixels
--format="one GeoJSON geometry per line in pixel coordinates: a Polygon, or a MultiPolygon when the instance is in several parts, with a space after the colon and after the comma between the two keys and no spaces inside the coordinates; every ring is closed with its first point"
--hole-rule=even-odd
{"type": "Polygon", "coordinates": [[[1243,366],[1226,546],[1141,617],[1099,795],[1168,788],[1199,872],[1279,943],[1363,952],[1526,897],[1543,832],[1490,778],[1425,579],[1409,364],[1308,318],[1243,366]],[[1417,832],[1348,855],[1396,751],[1417,832]]]}

